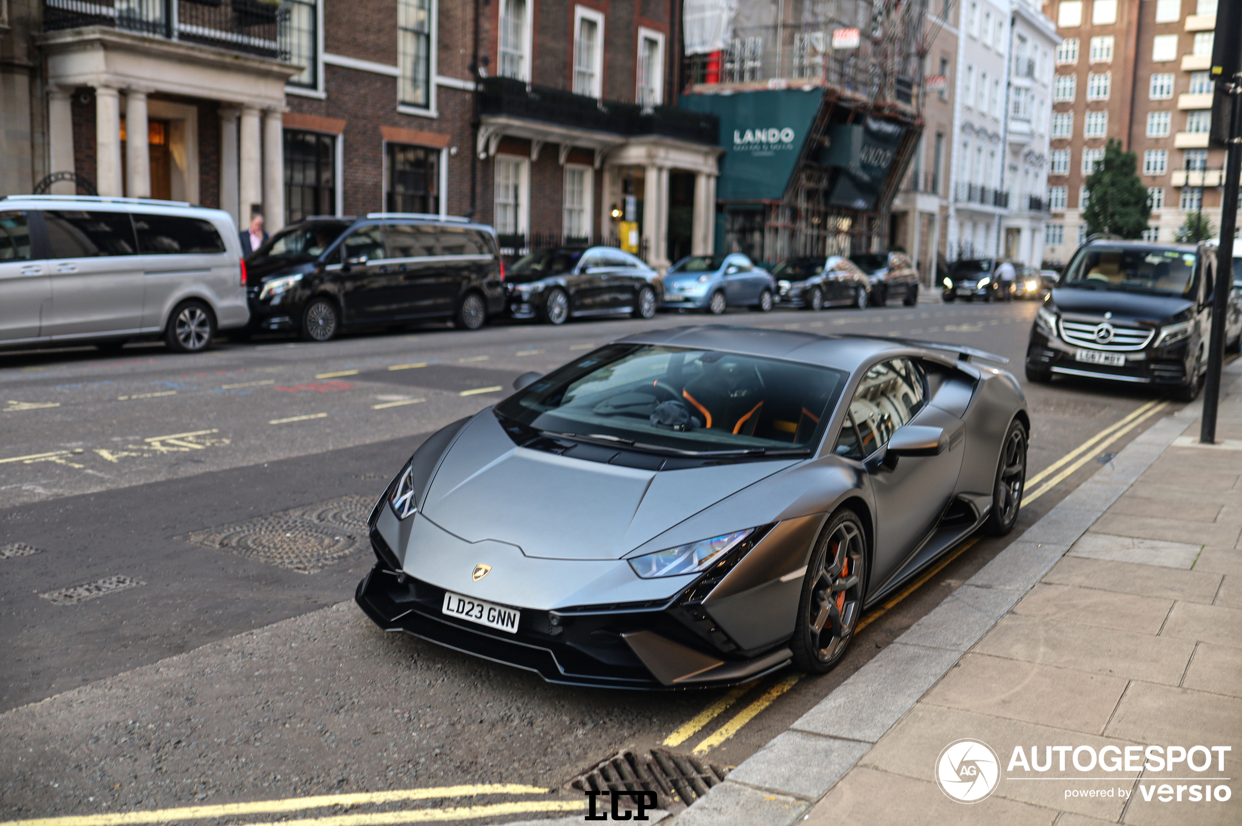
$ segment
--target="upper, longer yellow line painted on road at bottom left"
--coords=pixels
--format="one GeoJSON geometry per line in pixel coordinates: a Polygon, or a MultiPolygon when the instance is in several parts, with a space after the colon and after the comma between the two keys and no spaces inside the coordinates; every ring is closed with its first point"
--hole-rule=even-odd
{"type": "MultiPolygon", "coordinates": [[[[180,809],[155,809],[152,811],[109,812],[103,815],[70,815],[65,817],[40,817],[10,820],[0,826],[129,826],[130,824],[163,824],[178,820],[205,817],[237,817],[245,815],[270,815],[286,811],[303,811],[324,806],[365,806],[401,802],[406,800],[435,800],[437,797],[466,797],[469,795],[545,795],[548,789],[512,783],[472,786],[436,786],[431,789],[399,789],[392,791],[360,791],[344,795],[317,795],[312,797],[286,797],[284,800],[256,800],[245,804],[216,804],[214,806],[184,806],[180,809]]],[[[565,801],[546,801],[565,802],[565,801]]],[[[575,806],[581,806],[575,802],[575,806]]],[[[425,809],[420,811],[437,811],[425,809]]],[[[379,814],[379,812],[376,812],[379,814]]],[[[406,812],[384,812],[404,815],[406,812]]],[[[415,812],[416,814],[416,812],[415,812]]],[[[318,821],[324,822],[324,821],[318,821]]],[[[389,821],[406,822],[406,821],[389,821]]]]}

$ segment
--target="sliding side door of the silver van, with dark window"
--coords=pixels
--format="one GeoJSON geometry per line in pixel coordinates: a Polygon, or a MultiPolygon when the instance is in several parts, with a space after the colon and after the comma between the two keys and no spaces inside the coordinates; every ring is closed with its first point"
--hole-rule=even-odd
{"type": "Polygon", "coordinates": [[[51,319],[43,335],[138,333],[145,291],[129,212],[48,210],[51,319]]]}

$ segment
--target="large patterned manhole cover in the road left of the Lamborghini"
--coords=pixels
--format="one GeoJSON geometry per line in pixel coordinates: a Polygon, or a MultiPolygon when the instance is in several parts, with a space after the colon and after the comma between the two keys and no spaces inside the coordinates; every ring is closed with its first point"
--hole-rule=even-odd
{"type": "Polygon", "coordinates": [[[345,496],[196,530],[178,539],[302,574],[314,574],[370,545],[366,517],[373,504],[371,497],[345,496]]]}

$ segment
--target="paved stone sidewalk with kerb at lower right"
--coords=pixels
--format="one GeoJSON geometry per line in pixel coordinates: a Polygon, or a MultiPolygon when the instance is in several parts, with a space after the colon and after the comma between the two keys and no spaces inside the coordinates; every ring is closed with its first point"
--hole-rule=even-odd
{"type": "Polygon", "coordinates": [[[1217,445],[1201,404],[1158,421],[671,822],[1242,822],[1242,361],[1222,386],[1217,445]]]}

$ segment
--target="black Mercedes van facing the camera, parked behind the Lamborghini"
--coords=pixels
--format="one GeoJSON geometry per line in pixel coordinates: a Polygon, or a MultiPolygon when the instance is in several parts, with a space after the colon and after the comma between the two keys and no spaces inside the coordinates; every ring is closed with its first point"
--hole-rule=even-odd
{"type": "MultiPolygon", "coordinates": [[[[1088,241],[1036,314],[1026,378],[1148,384],[1194,400],[1207,369],[1215,270],[1206,243],[1088,241]]],[[[1228,330],[1231,349],[1240,333],[1228,330]]]]}

